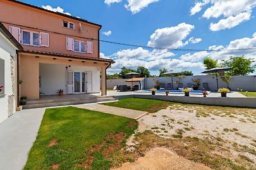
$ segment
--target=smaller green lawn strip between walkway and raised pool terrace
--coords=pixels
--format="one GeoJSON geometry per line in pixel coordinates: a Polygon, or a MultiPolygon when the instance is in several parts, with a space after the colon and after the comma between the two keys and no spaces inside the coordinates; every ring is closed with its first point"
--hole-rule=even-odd
{"type": "Polygon", "coordinates": [[[132,110],[148,111],[150,113],[154,113],[164,108],[167,108],[171,104],[174,104],[174,103],[166,102],[166,101],[151,100],[151,99],[138,99],[138,98],[120,99],[120,101],[117,101],[114,103],[104,103],[104,105],[107,105],[107,106],[127,108],[132,110]]]}

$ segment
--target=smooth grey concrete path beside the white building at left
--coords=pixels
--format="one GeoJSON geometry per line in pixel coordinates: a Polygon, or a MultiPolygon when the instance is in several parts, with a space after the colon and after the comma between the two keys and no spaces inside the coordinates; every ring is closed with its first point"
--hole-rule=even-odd
{"type": "Polygon", "coordinates": [[[44,112],[45,108],[18,111],[0,124],[0,169],[24,167],[44,112]]]}

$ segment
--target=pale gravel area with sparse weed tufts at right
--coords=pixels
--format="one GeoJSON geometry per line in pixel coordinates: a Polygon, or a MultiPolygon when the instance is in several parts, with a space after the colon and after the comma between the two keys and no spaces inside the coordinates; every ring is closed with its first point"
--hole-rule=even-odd
{"type": "Polygon", "coordinates": [[[220,141],[232,156],[243,154],[256,166],[256,110],[174,105],[145,115],[139,122],[138,131],[151,130],[164,138],[180,134],[220,141]]]}

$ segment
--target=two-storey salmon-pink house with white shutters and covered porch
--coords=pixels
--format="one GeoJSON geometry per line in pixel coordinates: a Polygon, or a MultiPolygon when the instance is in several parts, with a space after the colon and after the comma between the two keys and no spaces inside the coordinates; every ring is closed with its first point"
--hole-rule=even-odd
{"type": "Polygon", "coordinates": [[[0,0],[0,22],[19,41],[20,96],[106,95],[106,69],[100,58],[101,25],[14,0],[0,0]],[[101,77],[101,78],[100,78],[101,77]]]}

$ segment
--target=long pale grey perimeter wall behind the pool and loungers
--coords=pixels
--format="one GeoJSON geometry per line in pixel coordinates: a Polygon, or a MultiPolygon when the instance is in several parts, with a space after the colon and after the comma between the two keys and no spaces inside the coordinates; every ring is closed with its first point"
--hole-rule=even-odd
{"type": "MultiPolygon", "coordinates": [[[[208,83],[209,88],[212,91],[217,90],[216,85],[216,76],[185,76],[184,78],[179,78],[177,76],[173,77],[173,89],[176,89],[179,84],[182,83],[184,87],[187,87],[188,83],[194,83],[192,79],[200,79],[201,85],[198,90],[203,89],[203,83],[208,83]],[[175,83],[176,82],[176,83],[175,83]]],[[[107,88],[113,89],[115,85],[127,85],[125,82],[127,79],[112,79],[107,80],[107,88]]],[[[167,87],[168,83],[172,83],[172,77],[156,77],[156,78],[146,78],[145,80],[141,81],[141,89],[150,89],[156,85],[156,80],[159,80],[161,83],[164,83],[167,87]]],[[[227,83],[225,81],[221,80],[220,77],[218,77],[218,84],[219,88],[221,87],[227,87],[227,83]]],[[[230,89],[232,91],[236,91],[237,89],[243,91],[256,91],[256,76],[232,76],[230,80],[230,89]]]]}

